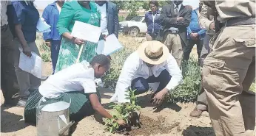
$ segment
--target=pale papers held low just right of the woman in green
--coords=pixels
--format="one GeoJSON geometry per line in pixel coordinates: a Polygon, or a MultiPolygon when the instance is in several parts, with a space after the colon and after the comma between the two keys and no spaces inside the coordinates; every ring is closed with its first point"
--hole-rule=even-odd
{"type": "Polygon", "coordinates": [[[116,51],[122,49],[123,46],[118,41],[118,38],[114,34],[109,35],[105,40],[100,40],[98,42],[97,54],[110,55],[116,51]]]}

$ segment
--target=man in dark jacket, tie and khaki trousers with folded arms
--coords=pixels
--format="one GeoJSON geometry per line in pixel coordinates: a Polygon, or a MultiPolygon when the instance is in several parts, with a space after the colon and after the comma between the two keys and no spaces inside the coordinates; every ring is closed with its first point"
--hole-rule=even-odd
{"type": "Polygon", "coordinates": [[[166,4],[161,10],[161,25],[163,29],[158,35],[161,40],[172,51],[178,65],[181,67],[183,48],[186,46],[186,27],[191,21],[190,7],[185,7],[183,1],[173,1],[166,4]]]}

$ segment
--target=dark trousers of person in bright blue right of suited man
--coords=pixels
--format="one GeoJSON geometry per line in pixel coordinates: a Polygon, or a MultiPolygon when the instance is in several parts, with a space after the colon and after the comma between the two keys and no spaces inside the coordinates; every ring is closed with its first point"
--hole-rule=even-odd
{"type": "Polygon", "coordinates": [[[202,47],[203,47],[203,40],[188,40],[188,44],[184,49],[184,56],[183,56],[183,60],[189,60],[189,55],[190,52],[193,49],[194,45],[197,45],[197,50],[198,50],[198,62],[200,62],[200,56],[201,56],[201,51],[202,51],[202,47]]]}

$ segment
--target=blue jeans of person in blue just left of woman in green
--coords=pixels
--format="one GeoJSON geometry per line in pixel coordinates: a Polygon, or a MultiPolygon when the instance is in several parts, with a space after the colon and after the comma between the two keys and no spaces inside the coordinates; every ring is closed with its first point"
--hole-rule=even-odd
{"type": "Polygon", "coordinates": [[[53,74],[55,72],[55,67],[58,60],[58,52],[60,48],[61,48],[61,40],[50,41],[50,51],[51,51],[51,58],[53,63],[53,74]]]}

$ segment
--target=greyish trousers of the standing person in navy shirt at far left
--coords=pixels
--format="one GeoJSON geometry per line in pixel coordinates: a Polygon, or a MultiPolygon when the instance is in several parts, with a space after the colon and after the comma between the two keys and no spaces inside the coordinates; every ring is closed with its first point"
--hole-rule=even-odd
{"type": "MultiPolygon", "coordinates": [[[[14,40],[14,43],[17,47],[21,48],[21,43],[19,43],[18,39],[14,40]]],[[[38,48],[35,42],[27,43],[30,46],[30,50],[39,54],[38,48]]],[[[41,85],[41,79],[38,79],[36,76],[27,73],[26,71],[22,71],[21,68],[18,68],[19,63],[19,55],[20,51],[16,49],[16,57],[14,61],[15,71],[18,79],[19,86],[19,96],[24,97],[30,94],[29,90],[36,90],[41,85]]]]}

